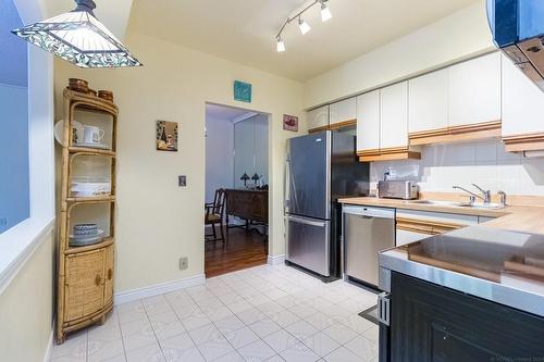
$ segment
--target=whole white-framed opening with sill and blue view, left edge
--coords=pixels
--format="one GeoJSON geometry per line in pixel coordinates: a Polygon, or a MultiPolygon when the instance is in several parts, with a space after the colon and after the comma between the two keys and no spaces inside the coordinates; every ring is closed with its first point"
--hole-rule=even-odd
{"type": "MultiPolygon", "coordinates": [[[[3,97],[0,102],[0,213],[10,215],[10,219],[2,216],[5,225],[0,228],[0,294],[39,246],[51,240],[54,226],[53,59],[37,47],[13,41],[17,39],[9,33],[17,24],[45,18],[40,4],[40,1],[0,0],[0,79],[3,83],[11,79],[9,85],[13,86],[18,74],[18,87],[26,88],[27,97],[21,109],[16,109],[23,111],[15,113],[21,123],[10,123],[21,126],[16,128],[21,132],[17,142],[15,135],[7,133],[11,121],[5,116],[7,108],[12,103],[3,97]],[[13,60],[15,54],[22,58],[13,60]],[[21,74],[25,74],[26,82],[21,80],[21,74]],[[14,158],[18,161],[12,161],[14,158]],[[4,185],[11,185],[11,189],[7,190],[4,185]],[[15,197],[15,192],[20,196],[15,197]]],[[[24,91],[20,96],[24,97],[24,91]]]]}

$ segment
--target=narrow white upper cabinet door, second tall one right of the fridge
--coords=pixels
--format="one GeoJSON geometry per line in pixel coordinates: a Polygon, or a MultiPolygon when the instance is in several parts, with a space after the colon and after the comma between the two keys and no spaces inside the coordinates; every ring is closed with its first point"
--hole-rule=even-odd
{"type": "Polygon", "coordinates": [[[381,149],[408,147],[408,82],[380,90],[381,149]]]}

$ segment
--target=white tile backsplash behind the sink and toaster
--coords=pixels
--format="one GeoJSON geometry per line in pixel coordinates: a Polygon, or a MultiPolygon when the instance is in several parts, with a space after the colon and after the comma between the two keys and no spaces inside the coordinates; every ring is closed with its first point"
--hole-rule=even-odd
{"type": "Polygon", "coordinates": [[[421,160],[372,163],[370,182],[383,179],[387,171],[397,179],[417,180],[421,191],[450,192],[453,185],[474,183],[494,194],[544,195],[544,158],[506,152],[500,141],[423,147],[421,160]]]}

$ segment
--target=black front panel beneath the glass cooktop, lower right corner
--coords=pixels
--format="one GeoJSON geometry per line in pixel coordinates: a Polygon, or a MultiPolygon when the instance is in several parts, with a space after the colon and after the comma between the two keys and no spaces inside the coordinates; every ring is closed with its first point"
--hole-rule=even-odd
{"type": "Polygon", "coordinates": [[[398,273],[391,297],[391,361],[544,359],[542,317],[398,273]]]}

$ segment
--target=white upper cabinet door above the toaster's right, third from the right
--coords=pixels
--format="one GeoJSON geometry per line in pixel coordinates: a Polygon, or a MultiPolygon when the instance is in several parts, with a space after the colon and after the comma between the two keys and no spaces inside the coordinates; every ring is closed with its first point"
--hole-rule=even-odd
{"type": "Polygon", "coordinates": [[[418,133],[444,129],[448,125],[447,68],[408,82],[408,130],[418,133]]]}

